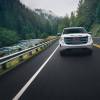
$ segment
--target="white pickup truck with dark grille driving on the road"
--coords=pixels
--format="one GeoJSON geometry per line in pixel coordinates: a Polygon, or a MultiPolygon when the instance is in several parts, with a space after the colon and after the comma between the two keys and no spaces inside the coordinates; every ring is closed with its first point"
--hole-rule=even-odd
{"type": "Polygon", "coordinates": [[[65,49],[88,49],[88,53],[92,54],[93,39],[83,27],[64,28],[60,40],[60,54],[64,55],[65,49]]]}

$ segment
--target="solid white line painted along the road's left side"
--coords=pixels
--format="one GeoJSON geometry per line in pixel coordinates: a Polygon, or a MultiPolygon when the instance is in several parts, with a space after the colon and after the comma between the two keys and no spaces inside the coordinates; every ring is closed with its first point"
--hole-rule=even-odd
{"type": "Polygon", "coordinates": [[[37,72],[29,79],[29,81],[22,87],[22,89],[17,93],[17,95],[12,100],[19,100],[19,98],[23,95],[23,93],[27,90],[27,88],[30,86],[30,84],[36,79],[38,74],[42,71],[42,69],[45,67],[45,65],[49,62],[49,60],[52,58],[54,53],[59,48],[59,45],[57,48],[53,51],[53,53],[49,56],[49,58],[42,64],[42,66],[37,70],[37,72]]]}

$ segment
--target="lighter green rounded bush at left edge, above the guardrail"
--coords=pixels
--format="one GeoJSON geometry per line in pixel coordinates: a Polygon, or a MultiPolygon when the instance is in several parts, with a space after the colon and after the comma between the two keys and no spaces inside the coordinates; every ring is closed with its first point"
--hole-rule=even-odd
{"type": "Polygon", "coordinates": [[[18,39],[16,32],[0,28],[0,47],[16,43],[18,39]]]}

